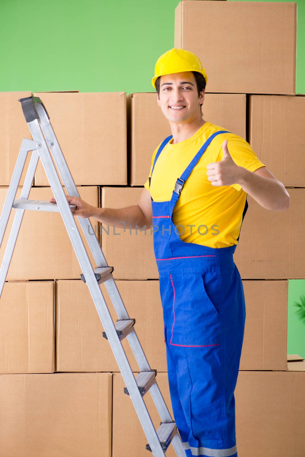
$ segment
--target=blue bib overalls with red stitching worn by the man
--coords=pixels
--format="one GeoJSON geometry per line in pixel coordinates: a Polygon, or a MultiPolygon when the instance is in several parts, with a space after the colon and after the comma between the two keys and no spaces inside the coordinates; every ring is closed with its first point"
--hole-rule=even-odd
{"type": "MultiPolygon", "coordinates": [[[[220,133],[231,132],[218,131],[207,139],[169,201],[152,199],[168,383],[187,457],[237,457],[234,389],[246,319],[242,280],[233,260],[237,245],[215,249],[186,243],[172,220],[184,182],[220,133]]],[[[160,145],[153,168],[171,138],[160,145]]],[[[242,219],[246,211],[247,200],[242,219]]]]}

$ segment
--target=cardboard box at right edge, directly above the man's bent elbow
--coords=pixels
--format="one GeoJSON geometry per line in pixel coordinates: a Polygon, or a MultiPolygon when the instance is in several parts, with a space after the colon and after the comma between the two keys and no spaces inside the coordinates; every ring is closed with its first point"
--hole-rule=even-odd
{"type": "Polygon", "coordinates": [[[249,112],[259,159],[284,186],[305,187],[305,96],[251,95],[249,112]]]}

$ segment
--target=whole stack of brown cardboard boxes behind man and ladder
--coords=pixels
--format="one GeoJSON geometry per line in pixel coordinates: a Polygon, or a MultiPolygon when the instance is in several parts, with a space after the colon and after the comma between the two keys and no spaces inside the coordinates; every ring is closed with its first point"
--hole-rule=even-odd
{"type": "MultiPolygon", "coordinates": [[[[197,54],[208,74],[204,118],[247,140],[290,195],[288,211],[266,210],[248,195],[234,255],[247,313],[235,390],[236,436],[240,457],[301,457],[305,361],[292,356],[301,360],[287,363],[288,279],[305,278],[300,249],[305,98],[295,94],[296,4],[182,0],[175,10],[174,46],[197,54]]],[[[5,165],[0,208],[21,140],[31,138],[18,102],[30,95],[0,94],[5,120],[0,124],[5,165]]],[[[33,95],[47,108],[80,197],[95,207],[136,205],[153,151],[171,134],[156,94],[33,95]]],[[[29,198],[48,201],[52,195],[38,163],[29,198]]],[[[151,230],[90,220],[172,414],[151,230]]],[[[89,258],[95,267],[91,254],[89,258]]],[[[25,212],[0,299],[0,457],[148,455],[80,273],[60,213],[25,212]]],[[[101,288],[116,321],[105,286],[101,288]]],[[[131,348],[126,340],[122,345],[136,375],[131,348]]],[[[151,396],[144,399],[158,428],[151,396]]],[[[175,456],[172,446],[166,455],[175,456]]]]}

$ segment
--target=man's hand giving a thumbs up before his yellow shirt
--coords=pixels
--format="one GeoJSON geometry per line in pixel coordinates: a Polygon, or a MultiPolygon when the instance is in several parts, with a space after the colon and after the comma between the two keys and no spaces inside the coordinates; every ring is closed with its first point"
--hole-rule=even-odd
{"type": "Polygon", "coordinates": [[[222,143],[223,158],[206,165],[206,174],[212,186],[231,186],[238,184],[240,179],[242,167],[236,165],[232,159],[227,144],[228,140],[222,143]]]}

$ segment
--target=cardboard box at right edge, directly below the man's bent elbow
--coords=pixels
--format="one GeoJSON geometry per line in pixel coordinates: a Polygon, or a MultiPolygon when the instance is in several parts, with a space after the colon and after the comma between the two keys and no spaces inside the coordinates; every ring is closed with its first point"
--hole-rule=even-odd
{"type": "Polygon", "coordinates": [[[247,196],[249,207],[234,253],[243,279],[305,278],[305,189],[286,190],[290,195],[286,211],[265,209],[247,196]]]}

